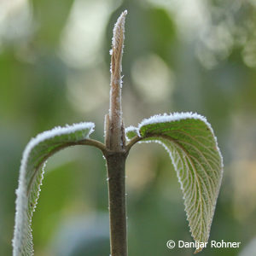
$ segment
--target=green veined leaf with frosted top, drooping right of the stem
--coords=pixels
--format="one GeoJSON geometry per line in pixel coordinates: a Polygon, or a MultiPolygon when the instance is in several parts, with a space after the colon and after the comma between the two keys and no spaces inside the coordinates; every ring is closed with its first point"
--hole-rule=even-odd
{"type": "Polygon", "coordinates": [[[137,141],[160,143],[170,154],[190,232],[195,241],[207,242],[223,173],[211,125],[197,113],[173,113],[144,119],[137,133],[137,141]]]}

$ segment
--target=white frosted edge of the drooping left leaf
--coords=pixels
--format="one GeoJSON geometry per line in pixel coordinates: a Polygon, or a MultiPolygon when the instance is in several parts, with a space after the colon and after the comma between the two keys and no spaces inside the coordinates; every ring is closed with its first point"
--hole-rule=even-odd
{"type": "MultiPolygon", "coordinates": [[[[32,193],[34,198],[30,198],[32,193],[27,195],[27,183],[26,183],[26,169],[29,157],[32,153],[32,150],[35,149],[40,143],[44,143],[44,141],[53,139],[55,137],[61,137],[63,135],[75,134],[75,139],[69,141],[68,143],[78,143],[79,141],[83,141],[89,138],[90,134],[94,131],[95,125],[91,122],[84,122],[74,125],[66,125],[65,127],[55,127],[52,130],[44,131],[38,134],[37,137],[32,138],[31,141],[26,145],[26,148],[22,155],[21,165],[20,165],[20,176],[19,176],[19,185],[18,189],[16,189],[16,212],[15,212],[15,232],[14,238],[12,241],[13,244],[13,256],[28,256],[33,255],[33,246],[32,246],[32,212],[34,212],[35,207],[38,202],[38,196],[40,192],[40,185],[42,184],[42,180],[44,177],[44,166],[46,163],[45,158],[41,165],[38,166],[38,173],[36,175],[36,181],[38,183],[38,187],[35,189],[32,185],[32,193]],[[76,132],[81,132],[77,136],[76,132]],[[31,209],[29,209],[28,203],[29,200],[31,202],[31,209]]],[[[67,139],[68,141],[68,139],[67,139]]],[[[61,146],[61,142],[60,146],[61,146]]],[[[67,143],[67,142],[66,142],[67,143]]],[[[70,146],[70,145],[67,145],[70,146]]],[[[56,147],[55,149],[61,150],[61,147],[56,147]]],[[[56,151],[58,151],[56,150],[56,151]]],[[[55,151],[55,152],[56,152],[55,151]]],[[[53,153],[55,153],[53,152],[53,153]]],[[[50,153],[50,152],[49,152],[50,153]]],[[[49,154],[50,156],[51,154],[49,154]]]]}

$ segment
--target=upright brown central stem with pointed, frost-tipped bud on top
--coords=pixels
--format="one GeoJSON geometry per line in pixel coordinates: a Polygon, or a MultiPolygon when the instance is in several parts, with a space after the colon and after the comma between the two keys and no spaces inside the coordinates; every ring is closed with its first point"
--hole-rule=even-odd
{"type": "Polygon", "coordinates": [[[108,204],[111,256],[127,256],[125,202],[125,128],[121,107],[121,61],[124,47],[124,11],[113,27],[111,50],[110,108],[105,119],[108,166],[108,204]]]}

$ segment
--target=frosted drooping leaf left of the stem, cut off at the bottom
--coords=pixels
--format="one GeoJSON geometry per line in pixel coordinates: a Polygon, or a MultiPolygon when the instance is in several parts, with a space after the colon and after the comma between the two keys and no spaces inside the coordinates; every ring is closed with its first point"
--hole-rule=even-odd
{"type": "Polygon", "coordinates": [[[38,202],[45,161],[63,148],[91,142],[89,135],[92,131],[93,123],[55,127],[38,134],[27,144],[21,160],[19,186],[16,190],[14,256],[33,255],[32,212],[38,202]]]}

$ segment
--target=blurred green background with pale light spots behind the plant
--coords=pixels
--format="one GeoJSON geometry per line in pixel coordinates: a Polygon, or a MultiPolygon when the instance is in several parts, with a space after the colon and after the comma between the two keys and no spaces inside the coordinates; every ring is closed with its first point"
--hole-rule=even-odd
{"type": "MultiPolygon", "coordinates": [[[[224,155],[210,240],[256,252],[256,2],[254,0],[0,1],[0,255],[11,255],[15,189],[26,143],[55,125],[108,113],[109,49],[128,10],[123,57],[125,125],[156,113],[207,116],[224,155]]],[[[102,256],[108,188],[101,152],[68,148],[46,167],[32,221],[35,255],[102,256]],[[85,252],[85,253],[84,253],[85,252]]],[[[130,255],[192,255],[176,173],[164,148],[138,144],[127,160],[130,255]]]]}

